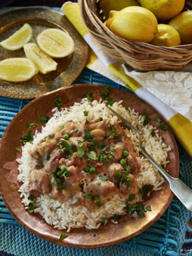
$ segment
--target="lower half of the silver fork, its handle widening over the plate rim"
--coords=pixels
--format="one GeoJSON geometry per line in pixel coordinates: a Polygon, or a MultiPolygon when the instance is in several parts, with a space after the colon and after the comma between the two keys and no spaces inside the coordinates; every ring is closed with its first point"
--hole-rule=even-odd
{"type": "Polygon", "coordinates": [[[150,160],[150,162],[159,170],[159,172],[167,179],[169,182],[169,187],[176,195],[176,197],[181,201],[181,203],[190,211],[192,211],[192,190],[187,187],[178,178],[173,178],[165,170],[159,166],[156,161],[146,152],[145,148],[139,146],[142,154],[150,160]]]}

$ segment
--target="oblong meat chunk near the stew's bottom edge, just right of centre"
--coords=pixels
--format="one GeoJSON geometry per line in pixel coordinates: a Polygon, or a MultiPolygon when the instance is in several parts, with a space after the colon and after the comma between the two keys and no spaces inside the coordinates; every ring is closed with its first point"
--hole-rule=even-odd
{"type": "Polygon", "coordinates": [[[109,180],[102,181],[98,178],[94,179],[88,186],[84,186],[84,192],[102,196],[107,196],[115,189],[116,186],[113,182],[109,180]]]}

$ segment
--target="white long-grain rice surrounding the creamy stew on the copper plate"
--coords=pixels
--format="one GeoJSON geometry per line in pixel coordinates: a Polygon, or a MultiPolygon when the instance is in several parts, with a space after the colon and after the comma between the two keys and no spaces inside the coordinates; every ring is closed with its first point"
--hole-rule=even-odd
{"type": "MultiPolygon", "coordinates": [[[[135,110],[125,110],[121,105],[122,101],[115,102],[113,104],[113,109],[127,119],[140,133],[140,138],[142,141],[142,146],[145,147],[148,154],[150,154],[158,164],[164,164],[168,161],[167,152],[170,150],[170,147],[162,142],[162,137],[158,134],[156,127],[153,127],[150,124],[143,125],[143,117],[135,110]],[[151,132],[155,131],[156,136],[152,137],[151,132]]],[[[20,197],[22,202],[25,205],[25,208],[28,209],[30,201],[29,197],[29,176],[34,168],[33,159],[29,154],[31,150],[42,138],[51,134],[55,128],[68,121],[73,120],[83,121],[88,119],[97,119],[102,117],[103,119],[109,121],[111,124],[119,122],[116,116],[113,116],[109,110],[105,107],[105,104],[100,99],[99,101],[94,100],[92,103],[84,98],[80,103],[75,103],[70,108],[61,109],[58,111],[57,108],[53,109],[53,117],[47,122],[45,127],[42,127],[41,133],[35,132],[33,137],[33,144],[27,142],[25,146],[22,147],[22,157],[17,159],[19,163],[18,166],[18,181],[23,182],[22,186],[19,188],[20,197]],[[84,116],[84,110],[89,111],[88,117],[84,116]]],[[[127,131],[127,137],[131,138],[135,149],[139,152],[138,148],[138,139],[136,135],[130,130],[127,131]]],[[[161,189],[161,185],[164,182],[163,177],[160,176],[157,169],[144,158],[142,155],[138,157],[138,160],[141,163],[141,168],[139,170],[139,175],[137,178],[138,187],[142,188],[145,184],[151,184],[154,186],[154,190],[161,189]]],[[[140,196],[136,196],[135,200],[132,203],[141,201],[140,196]]],[[[152,209],[153,210],[153,209],[152,209]]],[[[58,201],[50,198],[49,196],[40,196],[36,200],[36,208],[34,212],[39,212],[39,214],[45,219],[45,221],[53,225],[54,228],[66,229],[67,232],[74,227],[86,227],[88,229],[98,228],[105,218],[112,217],[113,214],[122,215],[126,213],[125,209],[125,200],[120,198],[118,195],[115,195],[110,201],[106,202],[101,206],[96,212],[91,212],[85,206],[79,205],[76,207],[70,207],[68,203],[59,203],[58,201]],[[57,207],[61,207],[56,209],[57,207]]],[[[114,222],[117,223],[117,222],[114,222]]]]}

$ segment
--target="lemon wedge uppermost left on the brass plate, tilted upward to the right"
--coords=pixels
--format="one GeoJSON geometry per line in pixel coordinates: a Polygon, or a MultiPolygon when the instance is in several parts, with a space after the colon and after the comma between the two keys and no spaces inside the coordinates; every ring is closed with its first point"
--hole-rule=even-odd
{"type": "Polygon", "coordinates": [[[13,35],[4,41],[0,42],[0,45],[8,50],[18,50],[22,48],[33,36],[33,30],[29,24],[25,24],[22,28],[17,30],[13,35]]]}

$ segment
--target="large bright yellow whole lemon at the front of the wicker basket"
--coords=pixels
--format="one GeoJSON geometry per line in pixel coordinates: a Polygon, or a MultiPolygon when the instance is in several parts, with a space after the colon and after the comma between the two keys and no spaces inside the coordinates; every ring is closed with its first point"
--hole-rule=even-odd
{"type": "Polygon", "coordinates": [[[157,34],[155,15],[140,6],[131,6],[121,11],[110,12],[108,28],[117,36],[126,40],[150,42],[157,34]]]}

